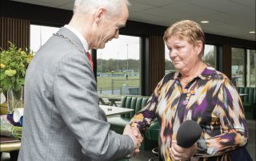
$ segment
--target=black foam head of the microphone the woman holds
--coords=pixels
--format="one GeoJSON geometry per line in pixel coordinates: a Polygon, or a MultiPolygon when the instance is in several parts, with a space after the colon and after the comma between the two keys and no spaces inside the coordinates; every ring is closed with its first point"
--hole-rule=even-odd
{"type": "Polygon", "coordinates": [[[177,144],[181,147],[191,147],[198,141],[202,133],[202,128],[194,120],[186,120],[178,128],[177,144]]]}

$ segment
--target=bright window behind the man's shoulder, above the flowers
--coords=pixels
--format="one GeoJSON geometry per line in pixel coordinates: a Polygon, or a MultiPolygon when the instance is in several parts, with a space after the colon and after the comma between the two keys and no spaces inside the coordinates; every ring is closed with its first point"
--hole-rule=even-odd
{"type": "Polygon", "coordinates": [[[37,52],[58,29],[57,27],[30,25],[30,49],[37,52]]]}

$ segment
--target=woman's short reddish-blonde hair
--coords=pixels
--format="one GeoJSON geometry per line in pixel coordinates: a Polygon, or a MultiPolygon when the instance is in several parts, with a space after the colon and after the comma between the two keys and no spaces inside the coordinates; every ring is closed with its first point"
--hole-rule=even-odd
{"type": "Polygon", "coordinates": [[[202,51],[200,53],[201,57],[203,56],[205,49],[205,34],[202,32],[201,26],[197,22],[191,20],[182,20],[175,22],[172,26],[166,29],[165,34],[163,35],[163,41],[171,36],[178,36],[182,40],[186,40],[191,45],[196,45],[197,41],[202,41],[202,51]]]}

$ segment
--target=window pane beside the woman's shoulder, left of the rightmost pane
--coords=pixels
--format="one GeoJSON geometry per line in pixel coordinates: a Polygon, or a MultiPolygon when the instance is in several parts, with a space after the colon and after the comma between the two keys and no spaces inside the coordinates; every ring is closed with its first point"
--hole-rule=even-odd
{"type": "Polygon", "coordinates": [[[241,48],[231,48],[231,81],[237,87],[245,86],[244,62],[245,50],[241,48]]]}

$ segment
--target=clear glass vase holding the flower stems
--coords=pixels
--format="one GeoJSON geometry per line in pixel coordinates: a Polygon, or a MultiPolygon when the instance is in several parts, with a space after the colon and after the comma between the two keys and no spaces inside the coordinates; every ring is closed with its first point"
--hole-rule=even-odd
{"type": "Polygon", "coordinates": [[[7,90],[8,113],[13,113],[15,108],[23,108],[23,87],[19,91],[13,88],[7,90]]]}

